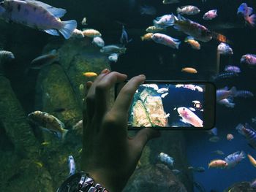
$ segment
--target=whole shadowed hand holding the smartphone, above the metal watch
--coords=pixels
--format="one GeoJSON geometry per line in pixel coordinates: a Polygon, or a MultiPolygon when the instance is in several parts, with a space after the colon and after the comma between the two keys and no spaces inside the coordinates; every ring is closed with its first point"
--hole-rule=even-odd
{"type": "Polygon", "coordinates": [[[129,107],[138,86],[146,79],[145,75],[129,80],[113,107],[109,107],[110,88],[126,79],[125,74],[103,70],[94,83],[87,82],[89,91],[83,107],[85,123],[81,166],[96,183],[110,192],[124,188],[146,142],[159,137],[159,131],[151,128],[143,128],[134,138],[127,135],[129,107]]]}

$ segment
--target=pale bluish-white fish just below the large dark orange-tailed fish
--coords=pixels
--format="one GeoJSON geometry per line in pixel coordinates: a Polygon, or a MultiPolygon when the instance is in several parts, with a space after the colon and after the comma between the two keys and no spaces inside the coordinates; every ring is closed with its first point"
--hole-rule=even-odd
{"type": "Polygon", "coordinates": [[[176,48],[178,49],[178,46],[181,44],[180,40],[174,39],[173,37],[167,36],[166,34],[154,34],[151,39],[154,42],[157,42],[162,45],[166,45],[168,47],[176,48]]]}

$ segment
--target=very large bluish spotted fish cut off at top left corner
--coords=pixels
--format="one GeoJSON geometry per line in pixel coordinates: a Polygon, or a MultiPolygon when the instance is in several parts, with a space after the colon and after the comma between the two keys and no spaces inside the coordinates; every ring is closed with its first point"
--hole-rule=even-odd
{"type": "Polygon", "coordinates": [[[77,28],[77,22],[76,20],[61,21],[59,18],[63,17],[66,12],[65,9],[52,7],[35,0],[4,0],[0,3],[1,19],[37,28],[55,36],[59,36],[59,31],[65,39],[69,39],[74,29],[77,28]]]}

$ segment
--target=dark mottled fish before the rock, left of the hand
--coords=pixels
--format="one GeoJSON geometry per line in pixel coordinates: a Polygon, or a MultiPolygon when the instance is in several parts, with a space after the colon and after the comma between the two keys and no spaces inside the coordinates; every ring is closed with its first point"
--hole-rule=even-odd
{"type": "Polygon", "coordinates": [[[57,137],[64,139],[68,130],[64,129],[64,123],[47,112],[34,111],[29,113],[29,120],[45,130],[52,131],[57,137]]]}

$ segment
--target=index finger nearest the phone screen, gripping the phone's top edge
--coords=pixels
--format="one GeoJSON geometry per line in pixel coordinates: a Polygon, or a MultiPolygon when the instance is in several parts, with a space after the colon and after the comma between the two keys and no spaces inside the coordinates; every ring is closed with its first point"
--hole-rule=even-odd
{"type": "Polygon", "coordinates": [[[140,74],[139,76],[133,77],[118,93],[116,101],[113,105],[113,110],[123,112],[127,114],[129,107],[132,104],[132,99],[135,94],[135,91],[138,89],[139,85],[146,80],[145,75],[140,74]]]}

